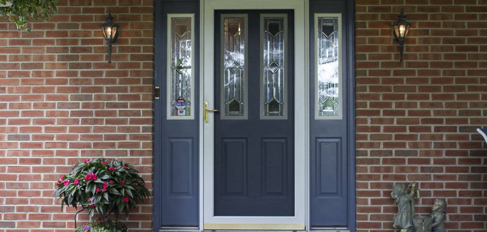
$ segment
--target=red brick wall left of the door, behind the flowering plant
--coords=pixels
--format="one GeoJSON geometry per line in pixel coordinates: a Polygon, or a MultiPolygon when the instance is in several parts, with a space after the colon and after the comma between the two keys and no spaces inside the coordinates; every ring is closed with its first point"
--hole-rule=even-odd
{"type": "MultiPolygon", "coordinates": [[[[0,232],[71,231],[51,194],[78,157],[139,164],[151,186],[153,2],[62,0],[31,34],[0,21],[0,232]],[[108,11],[120,25],[111,64],[108,11]]],[[[137,211],[127,225],[150,230],[151,201],[137,211]]]]}

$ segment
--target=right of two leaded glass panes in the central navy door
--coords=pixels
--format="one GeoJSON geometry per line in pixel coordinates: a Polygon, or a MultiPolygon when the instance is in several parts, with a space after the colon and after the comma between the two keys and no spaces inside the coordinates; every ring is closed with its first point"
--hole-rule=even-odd
{"type": "Polygon", "coordinates": [[[283,17],[263,18],[263,56],[264,56],[264,117],[284,116],[285,75],[284,75],[284,38],[285,23],[283,17]]]}

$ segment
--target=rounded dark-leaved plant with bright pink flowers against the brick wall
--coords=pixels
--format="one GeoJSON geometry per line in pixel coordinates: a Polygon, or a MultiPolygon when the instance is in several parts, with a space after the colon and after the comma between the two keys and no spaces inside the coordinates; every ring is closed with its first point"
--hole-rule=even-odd
{"type": "Polygon", "coordinates": [[[145,182],[132,165],[118,160],[85,159],[74,164],[66,175],[57,181],[56,196],[64,204],[89,210],[91,218],[95,210],[102,219],[112,212],[118,219],[121,213],[137,207],[137,200],[150,196],[145,182]]]}

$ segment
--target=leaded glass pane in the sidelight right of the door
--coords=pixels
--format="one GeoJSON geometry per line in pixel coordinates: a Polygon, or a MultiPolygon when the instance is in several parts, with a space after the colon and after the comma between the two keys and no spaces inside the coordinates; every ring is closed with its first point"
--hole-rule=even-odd
{"type": "Polygon", "coordinates": [[[338,17],[319,17],[317,21],[318,116],[339,117],[338,17]]]}

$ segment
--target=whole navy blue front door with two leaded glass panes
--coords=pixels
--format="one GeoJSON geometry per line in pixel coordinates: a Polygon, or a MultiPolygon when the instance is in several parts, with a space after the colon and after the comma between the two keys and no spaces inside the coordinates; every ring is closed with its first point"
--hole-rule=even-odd
{"type": "Polygon", "coordinates": [[[294,215],[293,15],[215,12],[215,216],[294,215]]]}

